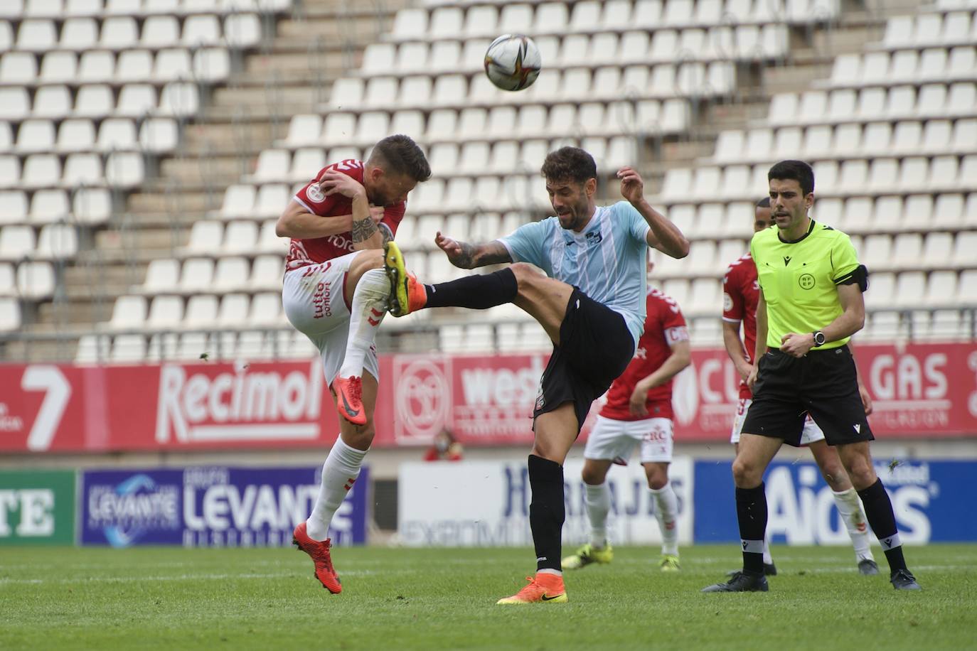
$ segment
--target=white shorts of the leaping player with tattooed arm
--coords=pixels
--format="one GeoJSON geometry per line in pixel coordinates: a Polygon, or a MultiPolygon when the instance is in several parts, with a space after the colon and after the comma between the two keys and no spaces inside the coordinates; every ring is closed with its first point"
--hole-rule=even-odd
{"type": "MultiPolygon", "coordinates": [[[[281,287],[281,305],[285,309],[285,316],[296,330],[319,348],[322,373],[330,386],[339,375],[346,357],[350,308],[343,298],[343,290],[346,272],[359,253],[354,251],[321,264],[285,271],[281,287]]],[[[380,379],[375,349],[370,350],[363,359],[363,370],[380,379]]]]}

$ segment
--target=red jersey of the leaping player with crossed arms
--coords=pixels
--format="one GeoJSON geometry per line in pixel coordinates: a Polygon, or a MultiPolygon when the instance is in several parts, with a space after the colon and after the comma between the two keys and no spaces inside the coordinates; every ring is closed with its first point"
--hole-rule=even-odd
{"type": "MultiPolygon", "coordinates": [[[[325,196],[322,190],[319,189],[319,179],[329,169],[338,170],[345,175],[353,177],[360,183],[363,182],[362,161],[352,158],[343,160],[332,165],[327,165],[319,170],[319,174],[316,175],[316,178],[311,183],[306,184],[305,187],[295,193],[295,200],[305,206],[310,213],[322,217],[351,215],[353,213],[353,199],[343,196],[338,192],[325,196]]],[[[391,235],[396,234],[397,226],[404,219],[405,210],[406,204],[403,201],[393,206],[387,206],[383,211],[383,220],[381,220],[380,224],[386,224],[390,228],[391,235]]],[[[309,264],[324,263],[327,260],[339,258],[348,253],[353,253],[353,236],[350,231],[336,233],[335,235],[328,235],[326,237],[317,237],[315,239],[293,238],[288,247],[288,258],[285,260],[285,268],[297,269],[301,266],[308,266],[309,264]]]]}

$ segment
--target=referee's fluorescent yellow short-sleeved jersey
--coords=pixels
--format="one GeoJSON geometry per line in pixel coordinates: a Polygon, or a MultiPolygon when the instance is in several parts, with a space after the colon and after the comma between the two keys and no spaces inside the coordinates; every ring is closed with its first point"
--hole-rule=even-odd
{"type": "MultiPolygon", "coordinates": [[[[781,240],[776,225],[753,235],[749,253],[767,304],[767,346],[779,348],[788,332],[824,330],[841,314],[835,287],[850,281],[859,268],[848,235],[811,220],[798,240],[781,240]]],[[[836,348],[849,338],[828,342],[819,350],[836,348]]]]}

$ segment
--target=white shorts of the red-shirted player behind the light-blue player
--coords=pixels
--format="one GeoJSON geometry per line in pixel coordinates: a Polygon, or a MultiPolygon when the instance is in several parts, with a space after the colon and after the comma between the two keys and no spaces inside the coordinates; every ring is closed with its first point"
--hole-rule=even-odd
{"type": "Polygon", "coordinates": [[[590,430],[584,459],[627,462],[634,448],[641,444],[641,463],[671,462],[672,421],[669,418],[649,418],[643,421],[616,421],[603,416],[590,430]]]}

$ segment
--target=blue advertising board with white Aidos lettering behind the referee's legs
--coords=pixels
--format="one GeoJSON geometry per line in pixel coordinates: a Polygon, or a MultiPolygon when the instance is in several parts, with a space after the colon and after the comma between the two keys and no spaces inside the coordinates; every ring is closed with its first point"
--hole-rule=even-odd
{"type": "MultiPolygon", "coordinates": [[[[977,462],[876,461],[904,543],[977,541],[970,494],[977,462]]],[[[847,545],[831,489],[814,464],[774,463],[767,470],[767,533],[787,545],[847,545]]],[[[738,542],[730,462],[696,463],[696,542],[738,542]]]]}

